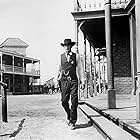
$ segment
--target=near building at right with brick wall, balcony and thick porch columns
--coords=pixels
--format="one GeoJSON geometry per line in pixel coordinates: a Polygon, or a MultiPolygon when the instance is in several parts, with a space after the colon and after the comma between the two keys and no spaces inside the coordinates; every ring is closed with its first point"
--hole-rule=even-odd
{"type": "Polygon", "coordinates": [[[116,108],[115,94],[132,93],[136,95],[137,122],[140,122],[139,13],[139,0],[75,0],[72,12],[77,48],[79,30],[83,32],[84,43],[88,40],[94,49],[106,47],[108,108],[116,108]]]}

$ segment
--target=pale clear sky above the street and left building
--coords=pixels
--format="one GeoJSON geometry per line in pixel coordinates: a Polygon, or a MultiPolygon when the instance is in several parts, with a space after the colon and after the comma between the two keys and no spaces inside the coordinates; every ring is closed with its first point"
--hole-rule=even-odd
{"type": "Polygon", "coordinates": [[[0,44],[20,38],[40,59],[41,83],[52,78],[65,38],[75,40],[74,0],[0,0],[0,44]]]}

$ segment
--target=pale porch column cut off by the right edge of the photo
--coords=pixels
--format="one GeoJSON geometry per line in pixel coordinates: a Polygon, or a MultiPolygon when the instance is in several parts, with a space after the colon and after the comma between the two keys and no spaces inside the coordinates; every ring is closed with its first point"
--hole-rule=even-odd
{"type": "Polygon", "coordinates": [[[136,50],[137,50],[137,101],[136,101],[136,120],[140,122],[140,2],[135,0],[135,15],[136,15],[136,50]]]}

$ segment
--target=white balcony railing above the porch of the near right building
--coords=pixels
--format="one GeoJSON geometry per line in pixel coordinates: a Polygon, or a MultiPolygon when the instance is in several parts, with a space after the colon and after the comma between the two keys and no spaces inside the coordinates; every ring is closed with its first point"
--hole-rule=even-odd
{"type": "MultiPolygon", "coordinates": [[[[125,8],[131,0],[111,0],[112,9],[125,8]]],[[[76,0],[75,11],[104,10],[105,0],[76,0]]]]}

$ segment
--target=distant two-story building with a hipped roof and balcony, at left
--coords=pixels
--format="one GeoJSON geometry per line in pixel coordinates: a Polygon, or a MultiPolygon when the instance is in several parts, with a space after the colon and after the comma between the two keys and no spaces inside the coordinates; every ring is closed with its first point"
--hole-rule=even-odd
{"type": "Polygon", "coordinates": [[[0,79],[10,94],[27,94],[40,81],[40,60],[26,56],[28,46],[19,38],[7,38],[0,45],[0,79]]]}

